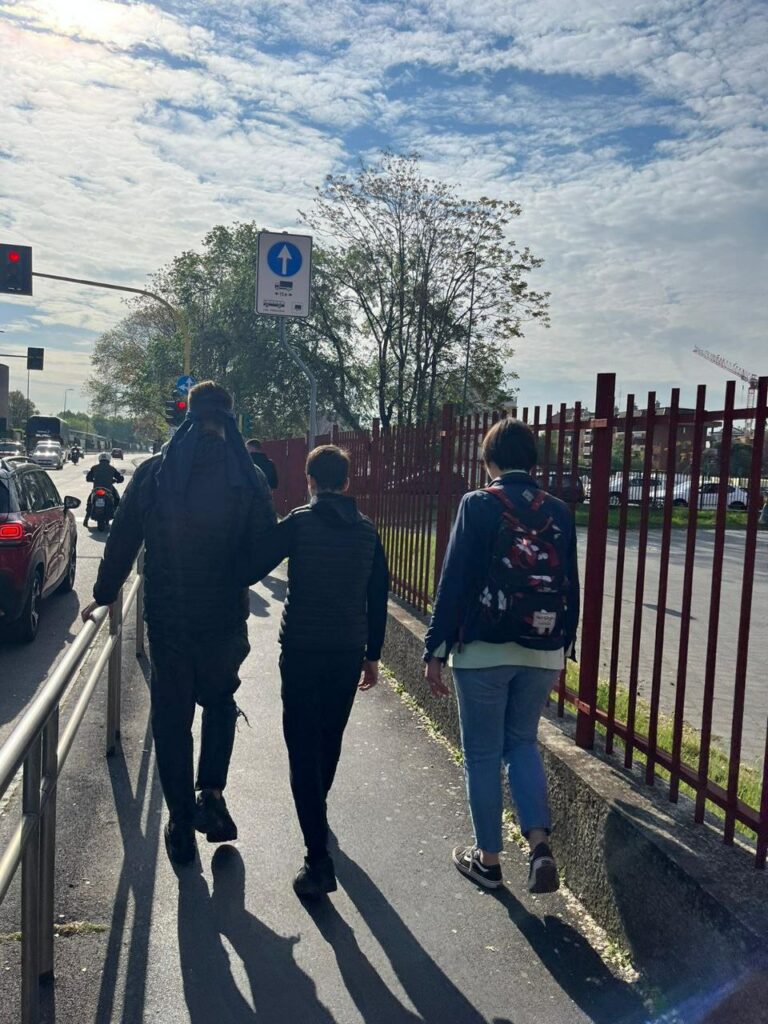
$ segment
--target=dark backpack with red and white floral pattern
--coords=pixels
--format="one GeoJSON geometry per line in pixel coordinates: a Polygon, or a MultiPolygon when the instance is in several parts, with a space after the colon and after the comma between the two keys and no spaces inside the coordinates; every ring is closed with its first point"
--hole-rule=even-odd
{"type": "Polygon", "coordinates": [[[504,506],[481,588],[483,639],[535,650],[565,645],[567,538],[545,508],[544,490],[527,487],[519,505],[503,487],[485,487],[504,506]]]}

